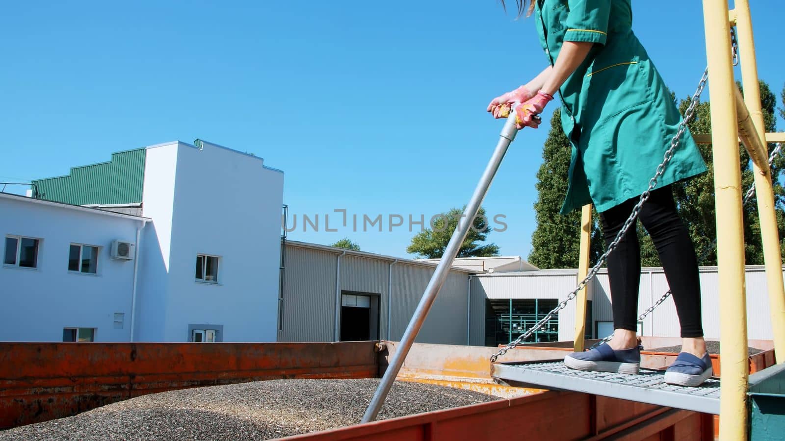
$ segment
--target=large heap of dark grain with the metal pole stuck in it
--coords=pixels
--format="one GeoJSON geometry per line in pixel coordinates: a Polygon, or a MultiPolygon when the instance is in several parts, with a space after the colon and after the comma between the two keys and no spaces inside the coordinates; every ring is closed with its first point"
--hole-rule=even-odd
{"type": "MultiPolygon", "coordinates": [[[[161,392],[0,432],[9,439],[273,439],[360,422],[378,378],[272,380],[161,392]]],[[[396,381],[378,419],[498,398],[396,381]]]]}

